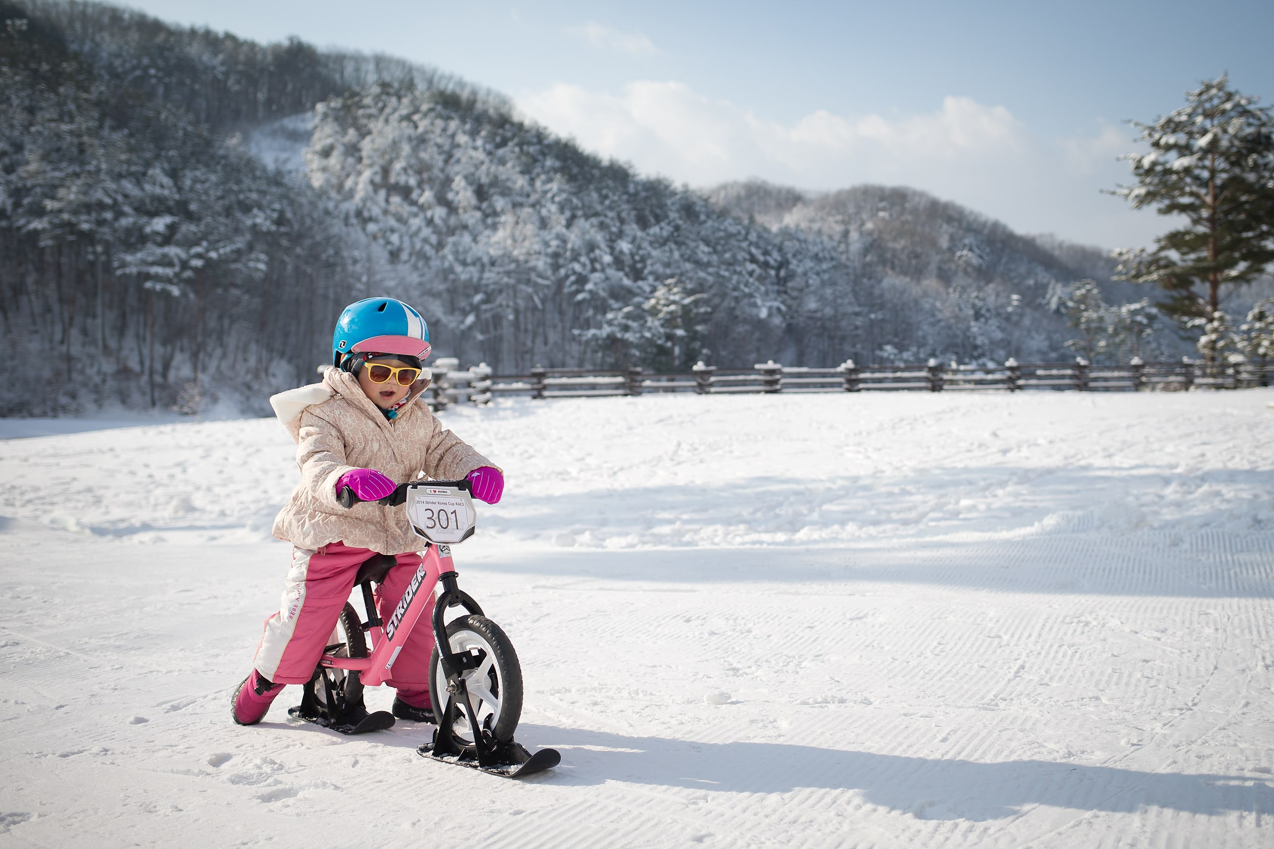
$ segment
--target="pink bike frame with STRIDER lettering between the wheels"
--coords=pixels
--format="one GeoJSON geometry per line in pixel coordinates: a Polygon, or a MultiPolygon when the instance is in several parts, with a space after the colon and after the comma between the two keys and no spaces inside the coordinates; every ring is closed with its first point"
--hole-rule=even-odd
{"type": "Polygon", "coordinates": [[[438,647],[438,654],[443,658],[442,668],[448,672],[451,670],[459,671],[466,668],[468,664],[464,662],[464,656],[456,656],[451,650],[442,614],[448,607],[461,606],[470,614],[482,616],[482,607],[469,597],[469,593],[461,591],[456,584],[456,569],[451,559],[451,546],[434,544],[431,544],[424,550],[420,565],[417,566],[415,574],[412,577],[410,583],[408,583],[406,591],[403,593],[403,600],[390,615],[389,622],[381,621],[376,611],[376,603],[372,600],[371,587],[367,583],[363,584],[363,606],[367,608],[367,633],[372,643],[371,654],[368,657],[334,657],[325,653],[318,663],[329,668],[357,671],[363,686],[367,687],[385,684],[391,677],[394,661],[397,659],[412,631],[415,630],[420,614],[429,606],[431,600],[433,600],[434,606],[432,622],[433,640],[438,647]],[[433,598],[434,588],[440,582],[442,592],[437,598],[433,598]]]}

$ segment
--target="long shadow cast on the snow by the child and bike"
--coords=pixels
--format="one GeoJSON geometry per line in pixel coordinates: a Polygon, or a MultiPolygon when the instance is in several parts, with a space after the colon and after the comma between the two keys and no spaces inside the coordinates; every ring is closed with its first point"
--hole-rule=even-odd
{"type": "Polygon", "coordinates": [[[562,751],[539,780],[629,782],[707,792],[860,790],[871,804],[922,820],[999,820],[1043,804],[1135,812],[1148,806],[1217,816],[1274,813],[1264,776],[1145,773],[1041,760],[996,764],[903,757],[786,743],[697,743],[524,724],[520,737],[562,751]]]}

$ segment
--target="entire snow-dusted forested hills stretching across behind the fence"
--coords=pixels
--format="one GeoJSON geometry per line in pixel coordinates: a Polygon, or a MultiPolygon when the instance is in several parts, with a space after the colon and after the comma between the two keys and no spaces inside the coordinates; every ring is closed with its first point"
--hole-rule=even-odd
{"type": "MultiPolygon", "coordinates": [[[[264,410],[373,291],[414,303],[437,354],[506,373],[1066,359],[1075,284],[1152,294],[1101,249],[913,190],[642,177],[390,57],[94,3],[0,20],[0,344],[79,378],[17,373],[3,415],[264,410]],[[262,136],[292,139],[293,167],[262,136]]],[[[1147,316],[1143,358],[1190,350],[1147,316]]]]}

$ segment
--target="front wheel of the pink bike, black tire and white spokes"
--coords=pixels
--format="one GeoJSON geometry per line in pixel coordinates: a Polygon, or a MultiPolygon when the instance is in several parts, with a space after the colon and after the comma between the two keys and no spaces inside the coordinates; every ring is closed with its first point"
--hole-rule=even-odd
{"type": "MultiPolygon", "coordinates": [[[[517,720],[522,717],[522,667],[517,652],[503,629],[485,616],[461,616],[447,624],[447,640],[452,652],[478,649],[482,661],[476,670],[464,673],[465,684],[474,699],[478,722],[490,736],[507,743],[513,738],[517,720]]],[[[451,704],[447,678],[442,673],[438,647],[429,658],[429,698],[442,726],[442,712],[451,713],[451,737],[457,746],[473,745],[473,729],[464,713],[451,704]]]]}

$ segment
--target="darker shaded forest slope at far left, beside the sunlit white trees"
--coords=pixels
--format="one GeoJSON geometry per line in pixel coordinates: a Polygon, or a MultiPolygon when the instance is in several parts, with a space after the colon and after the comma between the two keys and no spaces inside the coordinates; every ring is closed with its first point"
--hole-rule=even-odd
{"type": "Polygon", "coordinates": [[[112,6],[0,3],[0,414],[234,403],[312,370],[373,285],[369,239],[238,143],[240,130],[394,79],[404,62],[261,47],[112,6]],[[211,392],[209,392],[211,389],[211,392]]]}

